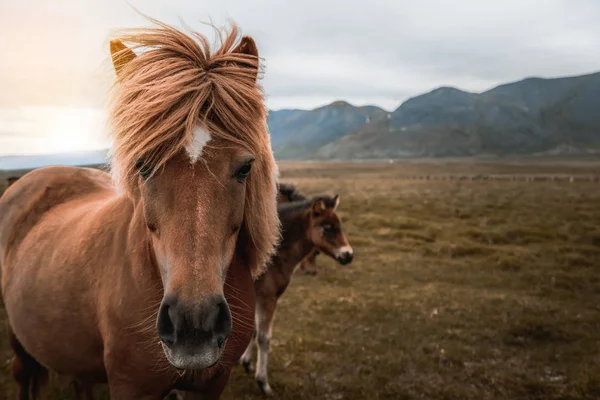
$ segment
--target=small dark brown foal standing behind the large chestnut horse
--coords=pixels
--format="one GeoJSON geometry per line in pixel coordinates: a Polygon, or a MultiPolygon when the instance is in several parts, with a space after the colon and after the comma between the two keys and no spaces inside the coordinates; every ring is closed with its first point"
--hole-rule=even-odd
{"type": "Polygon", "coordinates": [[[319,196],[310,200],[280,204],[279,218],[282,239],[267,270],[254,282],[256,293],[255,332],[252,342],[242,355],[240,363],[249,372],[252,350],[256,341],[258,362],[256,382],[260,390],[272,394],[267,375],[267,359],[273,330],[277,300],[285,292],[294,269],[314,248],[345,265],[352,262],[352,248],[342,231],[342,223],[335,210],[339,196],[319,196]]]}

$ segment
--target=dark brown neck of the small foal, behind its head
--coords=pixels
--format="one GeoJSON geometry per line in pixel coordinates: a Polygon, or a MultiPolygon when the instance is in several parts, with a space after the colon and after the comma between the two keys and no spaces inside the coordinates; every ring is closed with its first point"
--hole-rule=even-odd
{"type": "Polygon", "coordinates": [[[284,233],[280,246],[280,265],[282,272],[292,275],[296,266],[315,247],[309,235],[310,216],[301,213],[284,221],[284,233]]]}

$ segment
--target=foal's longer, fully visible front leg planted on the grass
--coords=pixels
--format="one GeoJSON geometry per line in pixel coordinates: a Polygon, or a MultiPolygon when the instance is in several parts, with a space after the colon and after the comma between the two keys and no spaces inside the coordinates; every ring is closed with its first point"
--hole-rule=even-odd
{"type": "Polygon", "coordinates": [[[256,305],[256,341],[258,343],[256,383],[263,394],[270,396],[273,394],[273,390],[271,389],[271,385],[269,385],[267,364],[269,360],[269,347],[271,345],[273,318],[275,317],[277,298],[272,297],[269,299],[261,299],[261,301],[257,302],[256,305]]]}

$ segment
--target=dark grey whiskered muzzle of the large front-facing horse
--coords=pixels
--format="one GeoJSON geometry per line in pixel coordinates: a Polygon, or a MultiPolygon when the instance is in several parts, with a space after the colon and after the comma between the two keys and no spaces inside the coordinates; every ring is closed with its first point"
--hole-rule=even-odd
{"type": "Polygon", "coordinates": [[[231,312],[221,295],[194,303],[168,295],[158,311],[157,329],[175,368],[207,368],[219,361],[231,332],[231,312]]]}

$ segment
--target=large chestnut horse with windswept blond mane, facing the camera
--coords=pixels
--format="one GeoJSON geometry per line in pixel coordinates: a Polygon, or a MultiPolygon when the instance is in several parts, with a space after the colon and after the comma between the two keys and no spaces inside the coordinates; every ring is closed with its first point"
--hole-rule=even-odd
{"type": "Polygon", "coordinates": [[[19,399],[47,368],[78,398],[96,382],[113,400],[218,398],[252,336],[253,277],[279,238],[256,45],[233,26],[211,52],[152,21],[111,42],[118,190],[99,170],[49,167],[0,198],[19,399]]]}

